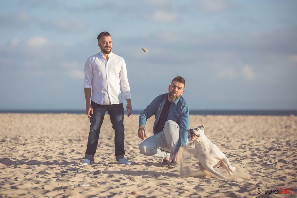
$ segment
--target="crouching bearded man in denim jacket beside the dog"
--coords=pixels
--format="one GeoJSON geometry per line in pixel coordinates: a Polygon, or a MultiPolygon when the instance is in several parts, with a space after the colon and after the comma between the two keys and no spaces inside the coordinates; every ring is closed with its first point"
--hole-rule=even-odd
{"type": "Polygon", "coordinates": [[[163,157],[162,165],[169,168],[177,166],[176,153],[188,141],[190,114],[187,101],[181,97],[185,85],[185,79],[176,76],[168,87],[168,93],[157,96],[139,116],[137,134],[144,140],[139,145],[140,153],[163,157]],[[154,135],[145,139],[144,125],[154,114],[154,135]]]}

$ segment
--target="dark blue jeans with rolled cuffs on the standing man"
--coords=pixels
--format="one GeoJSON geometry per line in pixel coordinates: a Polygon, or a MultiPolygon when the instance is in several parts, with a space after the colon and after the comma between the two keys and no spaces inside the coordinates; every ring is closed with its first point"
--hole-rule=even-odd
{"type": "Polygon", "coordinates": [[[110,116],[112,128],[114,129],[114,152],[117,161],[124,158],[124,107],[123,103],[114,105],[99,105],[91,101],[93,107],[93,114],[91,114],[90,132],[88,137],[88,144],[86,150],[86,159],[94,160],[94,155],[97,150],[100,128],[103,123],[105,112],[110,116]]]}

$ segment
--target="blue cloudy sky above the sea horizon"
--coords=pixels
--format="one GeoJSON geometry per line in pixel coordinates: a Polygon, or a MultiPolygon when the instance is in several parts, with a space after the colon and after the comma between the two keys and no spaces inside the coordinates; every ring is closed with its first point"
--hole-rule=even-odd
{"type": "Polygon", "coordinates": [[[296,9],[296,1],[1,1],[0,109],[84,109],[84,63],[100,51],[102,31],[126,61],[133,109],[176,75],[190,109],[297,109],[296,9]]]}

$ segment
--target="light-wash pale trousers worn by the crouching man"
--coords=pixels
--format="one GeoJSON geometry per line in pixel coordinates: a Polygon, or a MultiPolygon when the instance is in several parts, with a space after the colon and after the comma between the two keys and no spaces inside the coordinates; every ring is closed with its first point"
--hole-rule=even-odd
{"type": "Polygon", "coordinates": [[[157,157],[171,157],[179,141],[179,125],[172,121],[166,121],[163,131],[148,137],[139,145],[141,154],[157,157]]]}

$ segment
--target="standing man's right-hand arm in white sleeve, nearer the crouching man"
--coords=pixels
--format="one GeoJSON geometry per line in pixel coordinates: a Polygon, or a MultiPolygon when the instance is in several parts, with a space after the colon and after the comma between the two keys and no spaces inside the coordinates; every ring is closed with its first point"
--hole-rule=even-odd
{"type": "Polygon", "coordinates": [[[120,83],[123,91],[123,97],[124,99],[127,100],[126,109],[127,109],[127,113],[129,112],[129,114],[127,115],[129,117],[132,114],[132,103],[131,103],[130,85],[127,77],[127,67],[124,59],[122,60],[122,67],[121,67],[119,77],[120,77],[120,83]]]}

